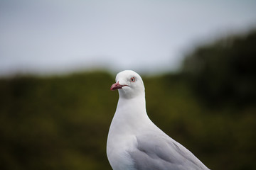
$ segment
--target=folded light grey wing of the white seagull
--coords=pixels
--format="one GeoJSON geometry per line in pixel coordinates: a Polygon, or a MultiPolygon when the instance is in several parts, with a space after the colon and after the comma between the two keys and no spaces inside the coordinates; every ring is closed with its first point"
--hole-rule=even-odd
{"type": "Polygon", "coordinates": [[[166,135],[137,136],[137,148],[129,154],[137,170],[208,169],[188,149],[166,135]]]}

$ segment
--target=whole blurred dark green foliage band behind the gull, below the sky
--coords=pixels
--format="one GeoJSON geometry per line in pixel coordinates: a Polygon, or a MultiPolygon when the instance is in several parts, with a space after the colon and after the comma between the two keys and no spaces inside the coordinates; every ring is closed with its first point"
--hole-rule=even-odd
{"type": "MultiPolygon", "coordinates": [[[[210,169],[255,169],[255,33],[232,38],[196,49],[183,72],[142,77],[147,112],[210,169]]],[[[0,169],[111,169],[112,83],[104,71],[2,78],[0,169]]]]}

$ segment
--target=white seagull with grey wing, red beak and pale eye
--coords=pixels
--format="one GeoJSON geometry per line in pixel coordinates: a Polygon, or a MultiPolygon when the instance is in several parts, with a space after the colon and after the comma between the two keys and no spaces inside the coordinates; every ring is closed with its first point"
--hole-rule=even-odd
{"type": "Polygon", "coordinates": [[[107,136],[107,159],[113,170],[208,169],[149,119],[139,74],[132,70],[119,72],[110,90],[119,92],[107,136]]]}

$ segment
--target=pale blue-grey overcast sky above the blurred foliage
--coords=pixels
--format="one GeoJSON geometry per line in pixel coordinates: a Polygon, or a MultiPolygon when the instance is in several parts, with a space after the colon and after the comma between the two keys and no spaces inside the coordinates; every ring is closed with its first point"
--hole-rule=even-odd
{"type": "Polygon", "coordinates": [[[176,70],[198,40],[256,26],[255,0],[0,0],[0,75],[176,70]]]}

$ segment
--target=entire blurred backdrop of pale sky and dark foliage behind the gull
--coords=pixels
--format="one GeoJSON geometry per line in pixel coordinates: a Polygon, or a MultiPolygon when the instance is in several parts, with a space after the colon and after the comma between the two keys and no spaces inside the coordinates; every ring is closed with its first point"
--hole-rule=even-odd
{"type": "Polygon", "coordinates": [[[0,1],[0,169],[111,169],[117,72],[210,169],[255,169],[256,1],[0,1]]]}

